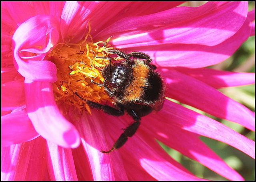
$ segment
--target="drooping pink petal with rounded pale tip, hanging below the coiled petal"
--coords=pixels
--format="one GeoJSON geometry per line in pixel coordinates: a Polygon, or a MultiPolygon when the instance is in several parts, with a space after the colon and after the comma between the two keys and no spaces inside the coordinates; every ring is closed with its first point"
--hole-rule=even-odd
{"type": "Polygon", "coordinates": [[[52,83],[25,79],[25,93],[28,117],[42,137],[65,148],[80,145],[78,131],[56,105],[52,83]]]}

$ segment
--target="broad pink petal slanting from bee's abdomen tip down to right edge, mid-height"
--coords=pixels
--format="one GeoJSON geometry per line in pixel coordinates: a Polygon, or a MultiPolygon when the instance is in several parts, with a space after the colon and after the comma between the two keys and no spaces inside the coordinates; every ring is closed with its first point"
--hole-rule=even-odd
{"type": "Polygon", "coordinates": [[[180,72],[168,70],[167,72],[161,72],[161,75],[165,77],[167,84],[167,97],[216,117],[239,123],[254,131],[254,112],[242,104],[228,98],[211,86],[180,72]]]}

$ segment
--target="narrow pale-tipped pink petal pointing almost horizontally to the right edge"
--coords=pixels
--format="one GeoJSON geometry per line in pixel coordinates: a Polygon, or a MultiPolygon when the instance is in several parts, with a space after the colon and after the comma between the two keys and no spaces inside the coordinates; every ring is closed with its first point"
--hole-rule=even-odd
{"type": "MultiPolygon", "coordinates": [[[[158,69],[165,68],[158,67],[158,69]]],[[[223,88],[230,86],[240,86],[255,83],[255,73],[232,72],[223,70],[214,70],[209,68],[185,68],[175,67],[175,70],[183,74],[192,76],[214,88],[223,88]]]]}

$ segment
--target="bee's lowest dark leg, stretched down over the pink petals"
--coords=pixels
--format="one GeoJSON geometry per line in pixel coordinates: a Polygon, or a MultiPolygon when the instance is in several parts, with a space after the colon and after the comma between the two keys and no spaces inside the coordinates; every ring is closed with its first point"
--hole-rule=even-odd
{"type": "Polygon", "coordinates": [[[127,112],[134,119],[134,123],[132,123],[126,129],[124,129],[124,133],[120,135],[120,137],[117,139],[117,141],[114,143],[113,147],[109,151],[101,150],[102,153],[110,153],[114,149],[122,147],[128,140],[128,137],[132,137],[134,133],[137,131],[140,125],[141,118],[132,109],[128,109],[127,112]]]}

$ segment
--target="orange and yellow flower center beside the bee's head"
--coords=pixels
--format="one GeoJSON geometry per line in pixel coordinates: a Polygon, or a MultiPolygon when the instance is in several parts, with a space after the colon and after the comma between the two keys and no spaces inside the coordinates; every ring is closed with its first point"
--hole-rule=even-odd
{"type": "MultiPolygon", "coordinates": [[[[103,83],[101,71],[97,68],[109,64],[107,59],[98,59],[97,57],[106,57],[104,47],[98,44],[102,41],[93,43],[87,41],[89,34],[84,40],[78,43],[65,43],[57,45],[49,55],[57,67],[58,81],[53,84],[54,97],[57,104],[66,106],[75,106],[82,112],[86,109],[90,113],[90,108],[81,99],[75,96],[77,92],[82,98],[94,102],[105,100],[112,101],[103,87],[92,83],[94,80],[103,83]]],[[[106,41],[106,43],[110,38],[106,41]]],[[[91,113],[90,113],[91,114],[91,113]]]]}

